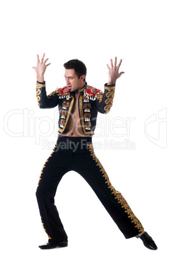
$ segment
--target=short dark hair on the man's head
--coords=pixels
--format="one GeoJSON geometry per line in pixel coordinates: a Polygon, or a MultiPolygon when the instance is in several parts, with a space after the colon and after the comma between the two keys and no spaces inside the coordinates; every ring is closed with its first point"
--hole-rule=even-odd
{"type": "Polygon", "coordinates": [[[78,76],[78,78],[84,75],[84,81],[86,81],[87,68],[81,60],[72,59],[63,64],[63,66],[65,69],[74,69],[75,75],[78,76]]]}

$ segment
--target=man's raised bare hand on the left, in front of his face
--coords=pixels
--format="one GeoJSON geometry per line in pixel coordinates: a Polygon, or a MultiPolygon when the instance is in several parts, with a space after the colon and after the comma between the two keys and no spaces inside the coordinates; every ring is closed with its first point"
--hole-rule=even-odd
{"type": "Polygon", "coordinates": [[[37,66],[32,67],[37,73],[37,81],[43,83],[44,82],[44,73],[46,71],[46,67],[51,63],[46,64],[47,60],[44,60],[45,53],[42,55],[41,61],[39,61],[39,55],[37,54],[37,66]]]}

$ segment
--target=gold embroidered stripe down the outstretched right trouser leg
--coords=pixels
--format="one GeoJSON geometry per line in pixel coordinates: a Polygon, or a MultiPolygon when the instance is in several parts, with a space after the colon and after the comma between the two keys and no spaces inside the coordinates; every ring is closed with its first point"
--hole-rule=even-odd
{"type": "Polygon", "coordinates": [[[131,222],[134,223],[134,227],[136,227],[139,230],[139,232],[144,231],[143,226],[141,225],[138,218],[136,218],[136,216],[134,215],[133,211],[131,210],[128,203],[122,196],[121,192],[115,190],[115,188],[110,183],[110,180],[108,178],[108,175],[107,175],[105,169],[103,168],[102,164],[100,163],[100,161],[98,160],[98,158],[95,155],[93,145],[88,144],[88,146],[89,146],[89,152],[91,152],[91,156],[93,157],[93,160],[95,160],[97,163],[96,166],[100,167],[100,171],[103,174],[103,178],[105,178],[105,180],[106,180],[105,183],[107,183],[107,186],[110,189],[111,194],[114,195],[114,199],[117,199],[117,203],[121,204],[121,207],[124,208],[124,212],[127,213],[128,218],[131,218],[131,222]]]}

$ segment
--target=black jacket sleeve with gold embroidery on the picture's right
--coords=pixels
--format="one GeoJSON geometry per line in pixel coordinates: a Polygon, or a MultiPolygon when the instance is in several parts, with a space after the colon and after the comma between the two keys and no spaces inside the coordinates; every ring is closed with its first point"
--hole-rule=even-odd
{"type": "Polygon", "coordinates": [[[104,92],[99,92],[96,96],[95,106],[100,113],[107,114],[112,108],[115,92],[115,84],[107,85],[105,83],[104,92]]]}

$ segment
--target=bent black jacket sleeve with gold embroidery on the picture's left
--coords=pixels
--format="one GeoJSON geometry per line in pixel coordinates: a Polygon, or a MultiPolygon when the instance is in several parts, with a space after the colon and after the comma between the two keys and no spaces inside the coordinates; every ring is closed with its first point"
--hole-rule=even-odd
{"type": "Polygon", "coordinates": [[[58,105],[60,99],[58,95],[58,89],[54,90],[46,95],[46,83],[36,83],[36,96],[39,108],[55,108],[58,105]]]}

